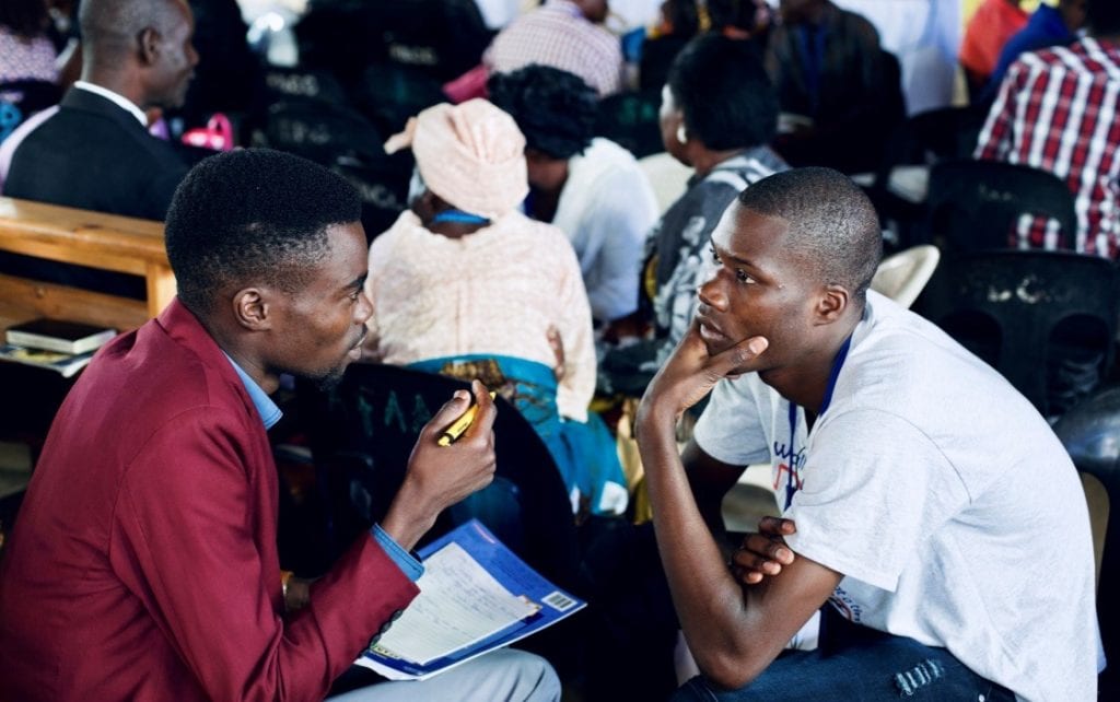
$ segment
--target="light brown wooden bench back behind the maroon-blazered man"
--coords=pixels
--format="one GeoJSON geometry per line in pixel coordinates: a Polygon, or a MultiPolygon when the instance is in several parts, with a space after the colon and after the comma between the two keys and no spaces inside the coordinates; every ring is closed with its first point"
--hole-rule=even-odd
{"type": "Polygon", "coordinates": [[[147,299],[132,300],[0,273],[0,328],[52,317],[124,331],[175,296],[161,222],[0,197],[0,251],[131,273],[147,283],[147,299]]]}

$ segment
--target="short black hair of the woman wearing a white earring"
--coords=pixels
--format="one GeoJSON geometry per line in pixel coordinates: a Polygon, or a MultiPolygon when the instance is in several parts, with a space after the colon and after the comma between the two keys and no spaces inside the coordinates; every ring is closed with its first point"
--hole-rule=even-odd
{"type": "Polygon", "coordinates": [[[774,138],[777,94],[754,41],[701,35],[673,59],[668,84],[689,138],[709,149],[748,149],[774,138]]]}

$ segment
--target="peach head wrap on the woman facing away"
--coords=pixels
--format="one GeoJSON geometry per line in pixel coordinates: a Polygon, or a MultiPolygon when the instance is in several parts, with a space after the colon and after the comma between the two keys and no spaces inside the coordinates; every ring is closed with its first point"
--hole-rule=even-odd
{"type": "Polygon", "coordinates": [[[429,107],[385,142],[412,147],[424,185],[448,204],[496,219],[529,194],[525,138],[505,112],[480,99],[429,107]]]}

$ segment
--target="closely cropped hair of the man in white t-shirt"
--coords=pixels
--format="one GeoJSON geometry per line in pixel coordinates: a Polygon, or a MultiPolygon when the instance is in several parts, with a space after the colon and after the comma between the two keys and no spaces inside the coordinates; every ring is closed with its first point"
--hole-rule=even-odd
{"type": "Polygon", "coordinates": [[[804,254],[821,282],[847,288],[862,303],[883,258],[883,233],[870,198],[831,168],[794,168],[739,194],[739,205],[790,223],[787,246],[804,254]]]}

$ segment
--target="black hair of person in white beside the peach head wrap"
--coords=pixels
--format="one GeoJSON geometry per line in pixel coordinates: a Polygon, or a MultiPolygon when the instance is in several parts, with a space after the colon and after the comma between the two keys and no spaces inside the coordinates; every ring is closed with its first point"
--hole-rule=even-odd
{"type": "Polygon", "coordinates": [[[528,148],[569,159],[591,143],[598,95],[578,75],[530,64],[494,74],[486,88],[491,102],[517,123],[528,148]]]}

